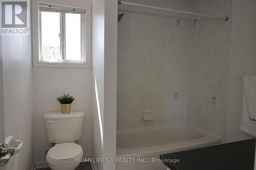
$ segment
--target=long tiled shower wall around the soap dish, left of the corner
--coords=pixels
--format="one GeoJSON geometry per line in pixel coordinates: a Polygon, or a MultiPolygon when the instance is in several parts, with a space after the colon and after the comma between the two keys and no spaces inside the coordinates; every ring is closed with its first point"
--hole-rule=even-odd
{"type": "MultiPolygon", "coordinates": [[[[189,10],[190,1],[130,1],[189,10]]],[[[189,21],[159,11],[119,5],[117,129],[186,122],[189,21]],[[178,93],[177,98],[174,98],[178,93]],[[142,111],[152,110],[145,122],[142,111]]]]}

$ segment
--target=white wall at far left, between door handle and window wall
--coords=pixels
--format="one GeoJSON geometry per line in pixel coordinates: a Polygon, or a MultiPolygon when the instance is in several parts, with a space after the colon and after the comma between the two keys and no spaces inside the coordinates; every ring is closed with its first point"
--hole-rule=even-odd
{"type": "Polygon", "coordinates": [[[31,36],[3,36],[5,136],[23,140],[7,170],[28,170],[33,164],[33,85],[31,36]]]}

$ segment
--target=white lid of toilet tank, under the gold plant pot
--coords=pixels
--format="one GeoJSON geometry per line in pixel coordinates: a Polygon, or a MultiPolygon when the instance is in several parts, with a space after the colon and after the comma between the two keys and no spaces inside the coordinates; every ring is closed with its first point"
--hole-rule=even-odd
{"type": "Polygon", "coordinates": [[[75,118],[83,116],[83,111],[71,111],[69,114],[62,114],[61,112],[49,112],[44,114],[45,119],[75,118]]]}

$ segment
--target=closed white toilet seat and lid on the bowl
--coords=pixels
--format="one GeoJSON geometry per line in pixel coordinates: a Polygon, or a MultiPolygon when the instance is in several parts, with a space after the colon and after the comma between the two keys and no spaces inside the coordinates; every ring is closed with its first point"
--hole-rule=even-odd
{"type": "Polygon", "coordinates": [[[69,162],[81,157],[82,154],[82,147],[79,144],[59,143],[48,151],[47,158],[53,162],[69,162]]]}

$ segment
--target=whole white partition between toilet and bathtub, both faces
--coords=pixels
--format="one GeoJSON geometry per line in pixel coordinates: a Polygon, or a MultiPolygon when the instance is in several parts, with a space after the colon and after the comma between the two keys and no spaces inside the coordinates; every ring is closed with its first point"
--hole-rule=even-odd
{"type": "MultiPolygon", "coordinates": [[[[93,157],[116,156],[117,1],[92,2],[93,157]]],[[[115,163],[96,163],[98,170],[115,163]]]]}

